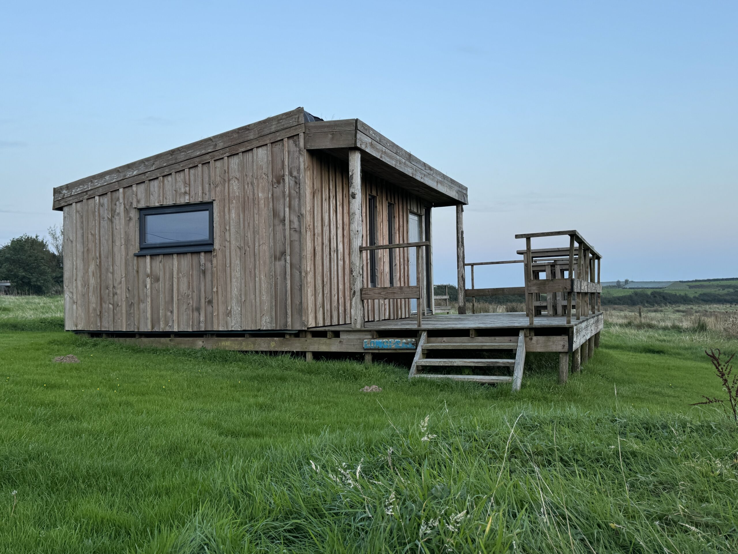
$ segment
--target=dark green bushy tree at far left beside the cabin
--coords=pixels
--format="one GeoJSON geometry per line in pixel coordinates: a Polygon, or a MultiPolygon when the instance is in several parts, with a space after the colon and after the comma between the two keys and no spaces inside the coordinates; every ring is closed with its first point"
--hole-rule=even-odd
{"type": "Polygon", "coordinates": [[[21,235],[0,248],[0,278],[24,294],[49,294],[55,285],[58,261],[38,235],[21,235]]]}

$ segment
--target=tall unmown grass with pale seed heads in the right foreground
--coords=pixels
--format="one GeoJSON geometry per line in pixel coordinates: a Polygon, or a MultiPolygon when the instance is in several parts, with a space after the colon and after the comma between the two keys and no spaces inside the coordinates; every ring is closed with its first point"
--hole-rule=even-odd
{"type": "Polygon", "coordinates": [[[141,552],[728,553],[734,458],[708,421],[440,407],[429,428],[390,426],[370,445],[325,434],[224,460],[213,500],[141,552]]]}

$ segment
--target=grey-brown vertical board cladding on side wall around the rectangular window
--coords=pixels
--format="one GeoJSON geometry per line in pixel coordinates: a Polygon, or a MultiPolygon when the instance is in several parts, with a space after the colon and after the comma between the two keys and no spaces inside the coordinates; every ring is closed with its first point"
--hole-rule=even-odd
{"type": "Polygon", "coordinates": [[[63,207],[66,329],[304,329],[300,136],[63,207]],[[213,200],[213,252],[134,256],[138,211],[213,200]]]}

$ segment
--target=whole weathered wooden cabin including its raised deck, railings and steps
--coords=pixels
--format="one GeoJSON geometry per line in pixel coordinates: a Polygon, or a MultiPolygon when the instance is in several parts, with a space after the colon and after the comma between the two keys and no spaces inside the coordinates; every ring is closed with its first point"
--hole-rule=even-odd
{"type": "Polygon", "coordinates": [[[151,346],[308,359],[403,351],[414,355],[410,377],[514,390],[526,351],[559,352],[565,381],[569,354],[576,371],[599,341],[601,256],[570,230],[518,235],[523,259],[467,264],[466,203],[465,186],[361,120],[294,109],[55,188],[65,327],[151,346]],[[457,314],[434,315],[432,208],[442,206],[456,209],[459,305],[457,314]],[[569,247],[531,250],[532,238],[556,235],[569,236],[569,247]],[[517,262],[526,312],[473,313],[477,296],[511,293],[475,289],[474,267],[517,262]],[[463,356],[485,349],[513,357],[463,356]]]}

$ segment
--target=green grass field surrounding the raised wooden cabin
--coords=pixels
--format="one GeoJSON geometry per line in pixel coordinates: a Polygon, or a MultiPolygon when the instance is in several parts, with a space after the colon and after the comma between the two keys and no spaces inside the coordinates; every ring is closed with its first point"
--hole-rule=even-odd
{"type": "Polygon", "coordinates": [[[689,406],[724,334],[609,324],[514,396],[79,338],[42,301],[0,297],[0,552],[738,551],[738,429],[689,406]]]}

